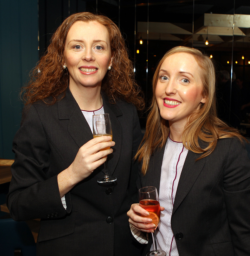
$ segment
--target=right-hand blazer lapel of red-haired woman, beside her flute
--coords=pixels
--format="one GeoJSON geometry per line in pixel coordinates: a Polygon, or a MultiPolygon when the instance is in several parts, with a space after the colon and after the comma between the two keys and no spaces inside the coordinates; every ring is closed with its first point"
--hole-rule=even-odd
{"type": "Polygon", "coordinates": [[[113,153],[107,157],[107,167],[110,175],[115,171],[118,160],[120,158],[122,147],[122,127],[117,117],[122,116],[122,112],[116,104],[110,104],[107,97],[102,94],[104,112],[110,114],[110,122],[112,127],[113,141],[115,146],[112,147],[113,153]]]}

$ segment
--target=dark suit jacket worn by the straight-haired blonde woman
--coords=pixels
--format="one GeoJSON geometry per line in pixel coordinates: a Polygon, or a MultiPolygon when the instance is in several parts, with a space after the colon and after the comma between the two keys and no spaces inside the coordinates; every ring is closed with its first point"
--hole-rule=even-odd
{"type": "MultiPolygon", "coordinates": [[[[150,185],[159,192],[163,154],[164,147],[152,155],[138,188],[150,185]]],[[[175,196],[171,226],[179,255],[250,255],[250,160],[244,145],[220,139],[213,153],[195,161],[199,156],[188,152],[175,196]]]]}

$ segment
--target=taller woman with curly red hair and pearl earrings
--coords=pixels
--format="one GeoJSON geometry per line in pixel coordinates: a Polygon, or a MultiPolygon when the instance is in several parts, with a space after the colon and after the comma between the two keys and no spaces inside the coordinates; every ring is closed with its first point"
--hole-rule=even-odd
{"type": "Polygon", "coordinates": [[[126,213],[136,194],[136,107],[144,103],[117,26],[92,13],[66,18],[24,100],[7,202],[14,220],[41,219],[37,255],[139,255],[126,213]],[[92,115],[104,113],[113,142],[93,139],[92,115]],[[102,185],[107,158],[117,181],[102,185]]]}

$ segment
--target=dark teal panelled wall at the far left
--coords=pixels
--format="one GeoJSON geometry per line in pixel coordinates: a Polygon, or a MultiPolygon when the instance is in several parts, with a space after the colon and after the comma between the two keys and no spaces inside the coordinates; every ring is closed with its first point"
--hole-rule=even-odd
{"type": "Polygon", "coordinates": [[[14,159],[13,137],[20,127],[20,88],[38,61],[36,0],[0,0],[0,158],[14,159]]]}

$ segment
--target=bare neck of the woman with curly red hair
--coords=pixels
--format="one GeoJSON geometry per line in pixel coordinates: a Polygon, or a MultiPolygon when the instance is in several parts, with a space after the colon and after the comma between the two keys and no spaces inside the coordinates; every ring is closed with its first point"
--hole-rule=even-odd
{"type": "Polygon", "coordinates": [[[91,111],[100,109],[102,106],[101,86],[82,86],[80,89],[70,85],[69,87],[80,109],[91,111]]]}

